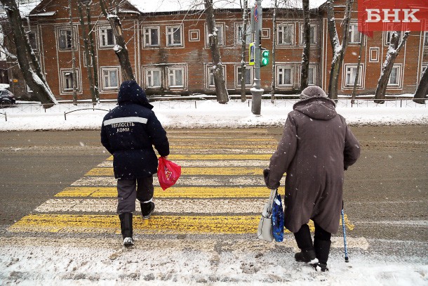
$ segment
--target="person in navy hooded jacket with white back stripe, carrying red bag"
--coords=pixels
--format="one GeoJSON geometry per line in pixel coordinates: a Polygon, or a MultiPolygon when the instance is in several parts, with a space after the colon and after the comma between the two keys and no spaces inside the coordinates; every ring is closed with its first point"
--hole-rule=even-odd
{"type": "Polygon", "coordinates": [[[135,82],[123,82],[117,96],[119,106],[105,115],[101,143],[113,155],[117,179],[117,214],[121,221],[123,245],[133,245],[135,199],[140,201],[143,219],[154,211],[153,175],[158,160],[169,155],[166,131],[152,111],[145,91],[135,82]]]}

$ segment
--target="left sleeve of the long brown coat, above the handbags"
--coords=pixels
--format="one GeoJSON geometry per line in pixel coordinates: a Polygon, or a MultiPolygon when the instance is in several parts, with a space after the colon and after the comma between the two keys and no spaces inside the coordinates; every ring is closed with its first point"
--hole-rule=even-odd
{"type": "Polygon", "coordinates": [[[293,117],[288,114],[281,141],[270,158],[269,171],[264,172],[267,188],[274,189],[281,185],[281,178],[293,160],[297,148],[297,129],[293,117]]]}

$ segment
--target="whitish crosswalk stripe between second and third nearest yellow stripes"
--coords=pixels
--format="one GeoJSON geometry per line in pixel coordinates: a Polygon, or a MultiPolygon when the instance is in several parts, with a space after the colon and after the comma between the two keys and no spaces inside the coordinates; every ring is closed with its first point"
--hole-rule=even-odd
{"type": "MultiPolygon", "coordinates": [[[[159,186],[155,179],[154,186],[159,186]]],[[[83,176],[72,186],[116,186],[113,177],[83,176]]],[[[181,176],[175,186],[266,186],[262,176],[181,176]]]]}

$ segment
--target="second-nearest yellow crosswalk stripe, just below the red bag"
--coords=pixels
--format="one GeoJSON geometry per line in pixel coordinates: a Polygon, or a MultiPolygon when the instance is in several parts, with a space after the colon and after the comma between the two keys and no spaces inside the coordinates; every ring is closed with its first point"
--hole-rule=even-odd
{"type": "MultiPolygon", "coordinates": [[[[154,188],[154,197],[189,197],[189,198],[216,198],[216,197],[269,197],[270,191],[265,187],[177,187],[166,190],[154,188]]],[[[117,197],[114,187],[69,187],[55,195],[55,197],[117,197]]]]}

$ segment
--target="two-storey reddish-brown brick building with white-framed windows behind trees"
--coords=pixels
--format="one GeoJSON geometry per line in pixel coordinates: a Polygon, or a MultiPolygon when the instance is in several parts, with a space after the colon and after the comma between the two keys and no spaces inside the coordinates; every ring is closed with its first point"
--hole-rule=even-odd
{"type": "MultiPolygon", "coordinates": [[[[145,9],[149,1],[129,0],[121,6],[119,17],[126,39],[131,65],[137,82],[149,95],[215,93],[211,73],[211,53],[205,15],[201,10],[175,9],[172,3],[145,9]]],[[[239,1],[236,1],[239,2],[239,1]]],[[[266,1],[267,2],[267,1],[266,1]]],[[[343,18],[345,1],[336,1],[337,32],[343,18]]],[[[72,8],[74,31],[69,27],[67,0],[44,0],[29,13],[29,36],[34,51],[56,98],[72,98],[72,51],[70,39],[76,46],[77,93],[79,99],[91,98],[87,63],[84,57],[81,26],[76,1],[72,8]]],[[[253,1],[249,5],[253,6],[253,1]]],[[[114,54],[115,45],[109,22],[101,14],[98,1],[93,1],[91,15],[95,23],[95,43],[100,81],[100,98],[116,98],[121,84],[121,67],[114,54]]],[[[262,2],[262,46],[272,51],[274,39],[273,8],[262,2]]],[[[339,94],[350,94],[354,86],[361,39],[362,53],[359,94],[373,94],[388,48],[389,32],[375,32],[373,37],[361,37],[357,30],[356,1],[349,27],[349,46],[341,67],[339,94]]],[[[328,89],[332,51],[327,32],[326,9],[321,4],[312,9],[309,84],[328,89]]],[[[242,11],[233,4],[217,7],[215,21],[218,28],[220,53],[225,68],[225,79],[230,94],[240,93],[242,11]]],[[[276,22],[276,65],[274,80],[276,93],[297,93],[300,86],[302,57],[302,11],[300,8],[279,8],[276,22]]],[[[428,23],[425,29],[428,31],[428,23]]],[[[248,25],[250,26],[250,25],[248,25]]],[[[253,41],[251,35],[247,43],[253,41]]],[[[248,50],[247,50],[248,64],[248,50]]],[[[406,46],[394,63],[387,94],[414,93],[422,70],[428,64],[428,32],[411,32],[406,46]]],[[[253,85],[253,67],[247,65],[246,87],[250,94],[253,85]]],[[[11,77],[17,77],[13,74],[11,77]]],[[[272,82],[272,59],[261,68],[261,87],[269,92],[272,82]]],[[[23,94],[22,91],[16,94],[23,94]]]]}

